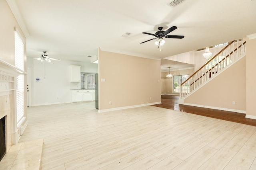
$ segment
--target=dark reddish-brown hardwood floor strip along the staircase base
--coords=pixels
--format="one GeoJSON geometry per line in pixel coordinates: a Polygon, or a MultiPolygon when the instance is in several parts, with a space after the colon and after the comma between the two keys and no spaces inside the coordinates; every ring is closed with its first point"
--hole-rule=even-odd
{"type": "Polygon", "coordinates": [[[152,106],[163,107],[166,109],[183,111],[186,113],[193,113],[197,115],[213,117],[216,119],[222,119],[222,120],[233,121],[237,123],[243,123],[246,125],[256,126],[256,120],[245,118],[246,114],[244,113],[236,113],[232,111],[223,111],[218,109],[208,109],[204,107],[182,105],[182,104],[179,104],[179,96],[162,95],[161,98],[162,98],[161,99],[162,104],[155,104],[152,106]]]}

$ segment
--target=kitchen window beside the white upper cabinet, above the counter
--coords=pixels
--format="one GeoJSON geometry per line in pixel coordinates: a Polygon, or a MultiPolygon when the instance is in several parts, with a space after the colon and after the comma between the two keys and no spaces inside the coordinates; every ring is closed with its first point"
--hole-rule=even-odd
{"type": "Polygon", "coordinates": [[[95,74],[81,73],[81,88],[85,88],[85,89],[95,88],[95,74]]]}

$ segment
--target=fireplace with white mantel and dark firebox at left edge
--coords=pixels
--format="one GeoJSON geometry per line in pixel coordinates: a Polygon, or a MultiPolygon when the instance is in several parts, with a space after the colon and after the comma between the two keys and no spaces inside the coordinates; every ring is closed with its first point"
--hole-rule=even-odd
{"type": "Polygon", "coordinates": [[[24,130],[28,124],[25,116],[17,124],[15,114],[15,80],[20,74],[26,72],[0,59],[0,158],[12,145],[18,143],[20,128],[24,130]]]}

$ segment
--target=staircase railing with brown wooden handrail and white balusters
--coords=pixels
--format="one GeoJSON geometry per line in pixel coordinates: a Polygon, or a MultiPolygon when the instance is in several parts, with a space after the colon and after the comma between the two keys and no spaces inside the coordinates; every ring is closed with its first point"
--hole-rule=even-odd
{"type": "Polygon", "coordinates": [[[217,74],[246,55],[246,41],[243,39],[231,41],[224,49],[204,64],[180,85],[180,104],[189,94],[195,92],[217,74]]]}

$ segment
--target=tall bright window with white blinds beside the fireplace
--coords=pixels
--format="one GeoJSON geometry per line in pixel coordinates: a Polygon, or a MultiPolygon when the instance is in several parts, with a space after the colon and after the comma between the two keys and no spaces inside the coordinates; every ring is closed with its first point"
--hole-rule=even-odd
{"type": "MultiPolygon", "coordinates": [[[[24,42],[20,34],[15,31],[15,66],[20,70],[24,70],[24,42]]],[[[16,114],[17,123],[24,116],[24,75],[20,74],[17,77],[17,90],[16,90],[16,114]]]]}

